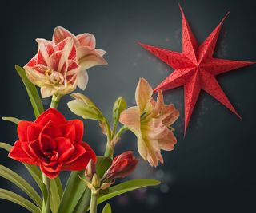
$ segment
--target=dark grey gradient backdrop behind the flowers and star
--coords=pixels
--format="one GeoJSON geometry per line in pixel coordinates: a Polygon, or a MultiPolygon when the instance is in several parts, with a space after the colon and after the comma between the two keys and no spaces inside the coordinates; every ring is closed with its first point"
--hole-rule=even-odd
{"type": "MultiPolygon", "coordinates": [[[[180,1],[199,42],[218,25],[227,11],[215,56],[256,61],[256,16],[254,1],[180,1]]],[[[55,26],[64,26],[74,34],[90,32],[97,47],[106,50],[109,66],[89,70],[85,93],[106,116],[118,96],[134,105],[134,89],[139,77],[158,85],[172,69],[137,45],[137,41],[176,51],[182,50],[182,18],[178,1],[8,1],[1,6],[1,116],[33,120],[26,90],[14,64],[25,65],[36,53],[37,37],[50,39],[55,26]]],[[[201,93],[183,138],[183,89],[164,93],[167,103],[181,111],[175,124],[178,144],[174,152],[163,152],[165,164],[150,168],[140,162],[130,178],[155,178],[160,187],[143,189],[111,199],[114,212],[255,212],[256,141],[255,93],[256,66],[226,73],[219,83],[243,120],[206,93],[201,93]]],[[[70,97],[62,99],[60,110],[74,116],[66,107],[70,97]]],[[[43,103],[49,106],[50,100],[43,103]]],[[[14,124],[0,121],[0,141],[13,144],[17,139],[14,124]]],[[[97,122],[85,121],[86,140],[102,153],[105,137],[97,122]]],[[[126,133],[117,152],[136,150],[136,138],[126,133]]],[[[6,158],[1,164],[14,168],[30,179],[22,164],[6,158]]],[[[62,173],[63,183],[68,172],[62,173]]],[[[21,191],[5,179],[0,187],[21,191]]],[[[26,212],[13,203],[0,200],[1,212],[26,212]]],[[[102,206],[99,207],[102,209],[102,206]]]]}

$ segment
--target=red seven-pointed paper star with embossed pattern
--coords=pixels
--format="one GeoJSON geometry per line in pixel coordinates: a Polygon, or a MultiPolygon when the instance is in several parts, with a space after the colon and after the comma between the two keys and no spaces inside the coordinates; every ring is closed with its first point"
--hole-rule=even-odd
{"type": "Polygon", "coordinates": [[[154,54],[154,56],[165,61],[167,65],[175,69],[170,76],[166,77],[154,89],[154,92],[158,89],[167,90],[184,86],[185,133],[201,89],[205,90],[241,118],[215,78],[218,74],[254,64],[254,62],[249,61],[230,61],[213,57],[218,34],[227,14],[206,40],[201,45],[198,45],[181,6],[180,10],[182,12],[182,53],[140,44],[150,53],[154,54]]]}

